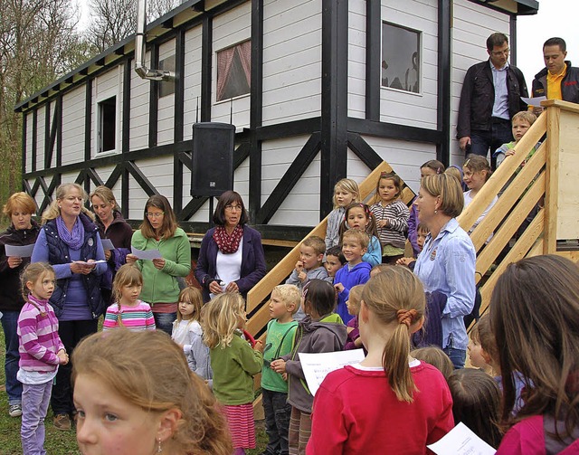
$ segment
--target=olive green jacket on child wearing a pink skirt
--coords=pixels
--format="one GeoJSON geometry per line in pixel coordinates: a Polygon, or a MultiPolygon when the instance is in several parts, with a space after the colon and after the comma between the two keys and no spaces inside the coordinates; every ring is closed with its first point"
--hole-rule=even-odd
{"type": "Polygon", "coordinates": [[[227,405],[252,403],[252,376],[261,372],[261,352],[254,351],[242,333],[235,330],[231,346],[216,346],[210,356],[217,401],[227,405]]]}

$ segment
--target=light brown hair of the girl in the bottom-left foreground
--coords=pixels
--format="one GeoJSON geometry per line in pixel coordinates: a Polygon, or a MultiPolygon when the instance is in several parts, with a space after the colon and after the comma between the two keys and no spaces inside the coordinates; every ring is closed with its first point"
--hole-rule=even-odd
{"type": "Polygon", "coordinates": [[[111,330],[91,335],[72,353],[72,383],[87,374],[146,412],[182,413],[171,442],[177,450],[230,455],[223,413],[183,349],[161,330],[111,330]]]}

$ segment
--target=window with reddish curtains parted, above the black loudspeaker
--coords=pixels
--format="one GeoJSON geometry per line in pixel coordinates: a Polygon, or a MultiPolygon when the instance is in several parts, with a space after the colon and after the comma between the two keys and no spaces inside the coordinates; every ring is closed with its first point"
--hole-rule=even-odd
{"type": "Polygon", "coordinates": [[[247,95],[251,87],[252,42],[217,52],[217,101],[247,95]]]}

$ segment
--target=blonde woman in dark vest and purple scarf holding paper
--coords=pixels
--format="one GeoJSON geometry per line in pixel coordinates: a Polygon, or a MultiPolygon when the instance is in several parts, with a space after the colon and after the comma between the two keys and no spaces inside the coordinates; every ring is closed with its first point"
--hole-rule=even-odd
{"type": "MultiPolygon", "coordinates": [[[[62,184],[43,213],[43,227],[34,244],[33,262],[48,262],[57,286],[50,303],[59,319],[59,336],[69,355],[83,337],[95,333],[106,305],[100,276],[107,271],[99,228],[85,207],[81,185],[62,184]]],[[[52,412],[58,430],[71,429],[71,364],[61,365],[52,387],[52,412]]]]}

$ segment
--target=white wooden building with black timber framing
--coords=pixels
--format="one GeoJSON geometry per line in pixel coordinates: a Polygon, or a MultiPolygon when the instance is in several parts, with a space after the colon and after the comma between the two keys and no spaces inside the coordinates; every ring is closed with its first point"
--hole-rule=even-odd
{"type": "MultiPolygon", "coordinates": [[[[460,88],[536,0],[189,0],[147,27],[141,80],[131,37],[16,107],[25,190],[39,212],[54,189],[113,189],[128,220],[165,194],[188,232],[196,121],[236,128],[234,189],[265,239],[297,241],[331,210],[333,185],[383,160],[417,190],[419,166],[459,162],[460,88]]],[[[210,154],[206,157],[211,160],[210,154]]]]}

